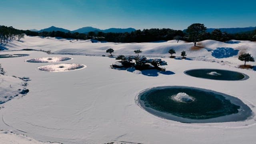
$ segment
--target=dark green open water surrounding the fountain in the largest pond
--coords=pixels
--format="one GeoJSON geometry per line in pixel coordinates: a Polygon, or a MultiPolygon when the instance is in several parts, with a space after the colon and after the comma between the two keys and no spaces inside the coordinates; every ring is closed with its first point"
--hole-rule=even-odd
{"type": "Polygon", "coordinates": [[[144,105],[155,110],[190,119],[208,119],[238,113],[240,106],[224,96],[192,88],[165,88],[151,90],[140,96],[144,105]],[[194,98],[192,102],[178,102],[171,96],[184,92],[194,98]]]}

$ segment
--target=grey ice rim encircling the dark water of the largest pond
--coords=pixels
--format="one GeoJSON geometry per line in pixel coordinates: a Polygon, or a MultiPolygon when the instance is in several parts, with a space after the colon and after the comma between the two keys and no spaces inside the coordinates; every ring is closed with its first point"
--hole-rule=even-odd
{"type": "Polygon", "coordinates": [[[140,91],[136,96],[135,96],[135,103],[142,108],[143,110],[145,110],[146,112],[153,114],[154,116],[157,116],[159,118],[163,118],[166,120],[172,120],[172,121],[176,121],[176,122],[181,122],[181,123],[192,123],[192,124],[208,124],[208,123],[212,123],[212,124],[222,124],[224,123],[223,126],[225,126],[226,122],[242,122],[242,126],[246,125],[251,125],[251,124],[255,124],[255,121],[253,119],[254,117],[254,113],[252,112],[252,110],[250,109],[249,106],[247,106],[242,100],[240,100],[239,98],[236,98],[234,96],[230,96],[228,94],[224,94],[221,92],[216,92],[213,90],[207,90],[207,89],[203,89],[203,88],[195,88],[195,87],[189,87],[189,86],[157,86],[157,87],[151,87],[151,88],[147,88],[145,90],[140,91]],[[153,108],[147,108],[146,106],[144,106],[143,102],[140,101],[140,96],[150,90],[161,90],[164,88],[193,88],[196,90],[202,90],[205,92],[213,92],[215,94],[220,94],[222,96],[224,96],[226,99],[230,100],[230,102],[232,104],[236,104],[238,106],[240,106],[239,112],[236,114],[230,114],[230,115],[225,115],[225,116],[220,116],[220,117],[216,117],[216,118],[209,118],[209,119],[202,119],[202,120],[194,120],[194,119],[189,119],[189,118],[183,118],[183,117],[179,117],[179,116],[175,116],[166,112],[160,112],[158,110],[155,110],[153,108]],[[242,120],[236,120],[234,121],[233,119],[236,117],[240,117],[243,115],[244,116],[242,118],[242,120]],[[246,119],[244,119],[246,118],[246,119]]]}

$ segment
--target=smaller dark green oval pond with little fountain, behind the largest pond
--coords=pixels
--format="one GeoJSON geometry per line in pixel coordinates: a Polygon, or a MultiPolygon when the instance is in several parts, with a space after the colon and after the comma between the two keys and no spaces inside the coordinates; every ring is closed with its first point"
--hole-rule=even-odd
{"type": "Polygon", "coordinates": [[[193,69],[186,70],[184,73],[189,76],[212,80],[247,80],[249,78],[248,75],[240,72],[219,69],[193,69]]]}

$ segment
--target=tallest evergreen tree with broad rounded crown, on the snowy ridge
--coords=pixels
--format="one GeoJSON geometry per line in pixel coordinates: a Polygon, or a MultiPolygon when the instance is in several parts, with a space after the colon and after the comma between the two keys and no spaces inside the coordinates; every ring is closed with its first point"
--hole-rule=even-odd
{"type": "Polygon", "coordinates": [[[206,27],[204,24],[192,24],[188,26],[186,32],[189,34],[189,37],[193,40],[194,46],[196,46],[196,42],[198,42],[198,38],[200,34],[203,34],[206,31],[206,27]]]}

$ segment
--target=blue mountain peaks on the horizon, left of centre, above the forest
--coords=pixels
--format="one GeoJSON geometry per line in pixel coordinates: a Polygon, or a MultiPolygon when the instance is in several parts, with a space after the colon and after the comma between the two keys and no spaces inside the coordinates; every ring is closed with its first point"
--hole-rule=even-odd
{"type": "Polygon", "coordinates": [[[61,32],[79,32],[79,33],[88,33],[88,32],[115,32],[115,33],[123,33],[123,32],[132,32],[132,31],[135,31],[136,29],[134,28],[109,28],[109,29],[106,29],[106,30],[101,30],[101,29],[98,29],[98,28],[93,28],[91,26],[87,26],[87,27],[83,27],[83,28],[79,28],[77,30],[67,30],[67,29],[64,29],[64,28],[57,28],[55,26],[51,26],[49,28],[45,28],[45,29],[42,29],[42,30],[31,30],[31,31],[37,31],[37,32],[52,32],[52,31],[61,31],[61,32]]]}

